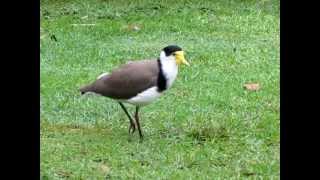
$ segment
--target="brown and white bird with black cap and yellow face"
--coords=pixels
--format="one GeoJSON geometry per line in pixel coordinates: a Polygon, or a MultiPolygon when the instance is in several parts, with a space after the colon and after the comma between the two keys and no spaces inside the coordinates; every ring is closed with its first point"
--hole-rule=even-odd
{"type": "Polygon", "coordinates": [[[81,94],[95,93],[115,100],[129,119],[129,134],[138,129],[140,139],[139,110],[161,97],[174,83],[179,66],[190,66],[184,51],[178,45],[164,47],[158,58],[130,61],[110,73],[99,75],[92,83],[82,86],[81,94]],[[135,106],[134,118],[125,104],[135,106]]]}

